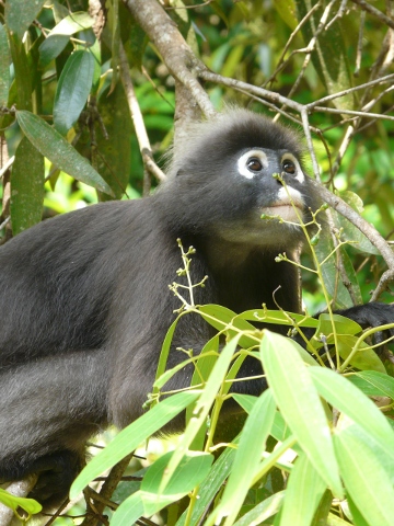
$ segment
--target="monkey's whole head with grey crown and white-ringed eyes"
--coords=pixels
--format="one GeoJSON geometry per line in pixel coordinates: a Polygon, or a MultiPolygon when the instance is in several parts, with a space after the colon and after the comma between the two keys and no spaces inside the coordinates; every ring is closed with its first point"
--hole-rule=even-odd
{"type": "Polygon", "coordinates": [[[174,227],[250,245],[299,245],[300,221],[320,206],[302,164],[301,138],[246,110],[188,132],[175,146],[163,188],[177,210],[174,227]]]}

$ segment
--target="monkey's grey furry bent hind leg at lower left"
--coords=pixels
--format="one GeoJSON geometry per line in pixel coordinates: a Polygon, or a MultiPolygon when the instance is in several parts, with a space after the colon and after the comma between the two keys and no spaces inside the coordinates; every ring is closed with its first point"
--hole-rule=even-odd
{"type": "Polygon", "coordinates": [[[0,374],[0,480],[38,473],[32,496],[55,505],[81,470],[86,439],[107,423],[107,350],[78,351],[0,374]]]}

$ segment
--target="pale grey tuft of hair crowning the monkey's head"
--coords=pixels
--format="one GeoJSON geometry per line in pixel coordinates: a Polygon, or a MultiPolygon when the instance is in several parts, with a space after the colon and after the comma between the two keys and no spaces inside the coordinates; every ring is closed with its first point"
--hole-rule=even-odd
{"type": "Polygon", "coordinates": [[[248,110],[230,108],[209,121],[190,122],[166,156],[166,172],[176,175],[196,156],[221,159],[247,148],[289,150],[300,160],[304,155],[302,138],[293,129],[248,110]]]}

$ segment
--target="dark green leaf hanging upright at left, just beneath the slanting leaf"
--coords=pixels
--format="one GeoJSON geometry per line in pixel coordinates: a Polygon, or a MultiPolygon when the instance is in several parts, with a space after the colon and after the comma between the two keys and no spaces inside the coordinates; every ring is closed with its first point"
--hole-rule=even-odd
{"type": "Polygon", "coordinates": [[[23,137],[11,172],[10,210],[14,236],[42,220],[44,170],[44,157],[23,137]]]}

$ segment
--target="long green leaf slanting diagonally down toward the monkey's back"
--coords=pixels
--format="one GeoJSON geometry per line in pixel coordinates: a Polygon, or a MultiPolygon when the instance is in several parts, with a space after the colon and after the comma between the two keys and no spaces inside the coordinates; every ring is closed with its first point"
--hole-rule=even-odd
{"type": "Polygon", "coordinates": [[[109,186],[88,160],[42,118],[26,111],[16,112],[16,118],[22,132],[44,157],[78,181],[112,195],[109,186]]]}

